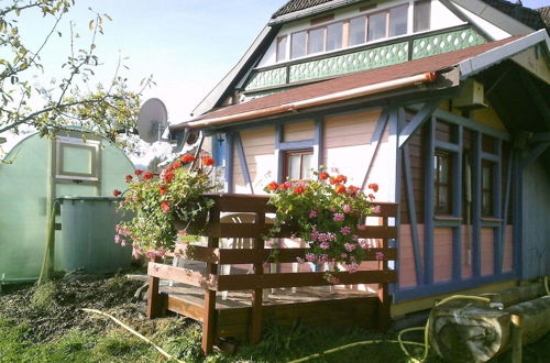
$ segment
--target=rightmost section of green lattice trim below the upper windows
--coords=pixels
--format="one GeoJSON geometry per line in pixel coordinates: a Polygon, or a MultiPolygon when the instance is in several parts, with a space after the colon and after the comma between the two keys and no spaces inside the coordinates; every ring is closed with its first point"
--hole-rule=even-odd
{"type": "Polygon", "coordinates": [[[420,59],[484,43],[485,40],[483,36],[477,34],[473,29],[420,37],[413,41],[413,59],[420,59]]]}

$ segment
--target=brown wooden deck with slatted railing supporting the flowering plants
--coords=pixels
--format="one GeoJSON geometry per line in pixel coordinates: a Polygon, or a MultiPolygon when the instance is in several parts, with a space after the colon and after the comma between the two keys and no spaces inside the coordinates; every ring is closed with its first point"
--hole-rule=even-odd
{"type": "MultiPolygon", "coordinates": [[[[376,270],[340,271],[334,273],[340,284],[375,284],[376,295],[356,290],[341,290],[326,279],[323,272],[264,272],[270,263],[296,263],[304,258],[307,248],[271,248],[264,237],[271,227],[266,215],[274,207],[267,196],[208,195],[215,206],[204,227],[207,245],[176,244],[174,256],[204,264],[202,268],[170,266],[161,261],[148,263],[147,316],[155,318],[167,310],[202,322],[202,350],[210,353],[219,338],[233,337],[241,341],[258,343],[265,323],[342,324],[386,330],[389,321],[388,284],[397,280],[397,272],[388,267],[388,261],[397,258],[397,250],[388,245],[397,237],[397,228],[388,220],[397,216],[397,205],[378,204],[380,213],[372,215],[377,226],[367,226],[358,232],[360,239],[376,240],[376,248],[365,251],[364,261],[375,262],[376,270]],[[223,213],[246,213],[248,222],[226,222],[223,213]],[[222,249],[222,239],[248,239],[245,249],[222,249]],[[381,257],[378,257],[378,255],[381,257]],[[222,265],[252,265],[250,274],[220,274],[222,265]],[[161,279],[175,282],[174,287],[161,287],[161,279]],[[293,293],[293,287],[297,293],[293,293]],[[264,298],[264,292],[274,292],[264,298]],[[228,298],[223,300],[224,292],[228,298]]],[[[182,224],[186,229],[187,224],[182,224]]],[[[176,228],[178,223],[176,222],[176,228]]],[[[193,232],[193,231],[191,231],[193,232]]],[[[276,235],[293,238],[289,228],[276,235]]]]}

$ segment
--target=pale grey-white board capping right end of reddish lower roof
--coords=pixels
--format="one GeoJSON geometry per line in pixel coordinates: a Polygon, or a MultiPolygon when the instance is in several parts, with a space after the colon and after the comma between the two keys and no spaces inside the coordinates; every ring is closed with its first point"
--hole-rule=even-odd
{"type": "Polygon", "coordinates": [[[460,77],[461,79],[469,78],[491,67],[495,63],[499,63],[507,58],[510,58],[516,54],[521,53],[525,50],[541,42],[546,42],[547,48],[550,48],[550,38],[548,37],[546,29],[539,30],[538,32],[531,33],[516,41],[506,43],[499,47],[476,55],[470,59],[462,61],[461,63],[459,63],[460,77]]]}

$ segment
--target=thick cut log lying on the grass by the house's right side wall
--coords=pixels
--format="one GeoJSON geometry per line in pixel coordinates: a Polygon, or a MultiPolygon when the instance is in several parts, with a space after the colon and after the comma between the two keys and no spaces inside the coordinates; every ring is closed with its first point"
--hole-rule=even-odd
{"type": "Polygon", "coordinates": [[[486,362],[512,344],[512,315],[522,317],[522,343],[550,331],[550,296],[505,310],[483,302],[453,300],[432,309],[430,345],[449,362],[486,362]]]}

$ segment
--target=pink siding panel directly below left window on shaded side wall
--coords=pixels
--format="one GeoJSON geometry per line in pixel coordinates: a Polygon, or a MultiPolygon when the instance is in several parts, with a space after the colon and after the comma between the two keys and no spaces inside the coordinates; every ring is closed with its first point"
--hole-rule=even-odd
{"type": "Polygon", "coordinates": [[[433,229],[433,280],[452,278],[452,228],[433,229]]]}

